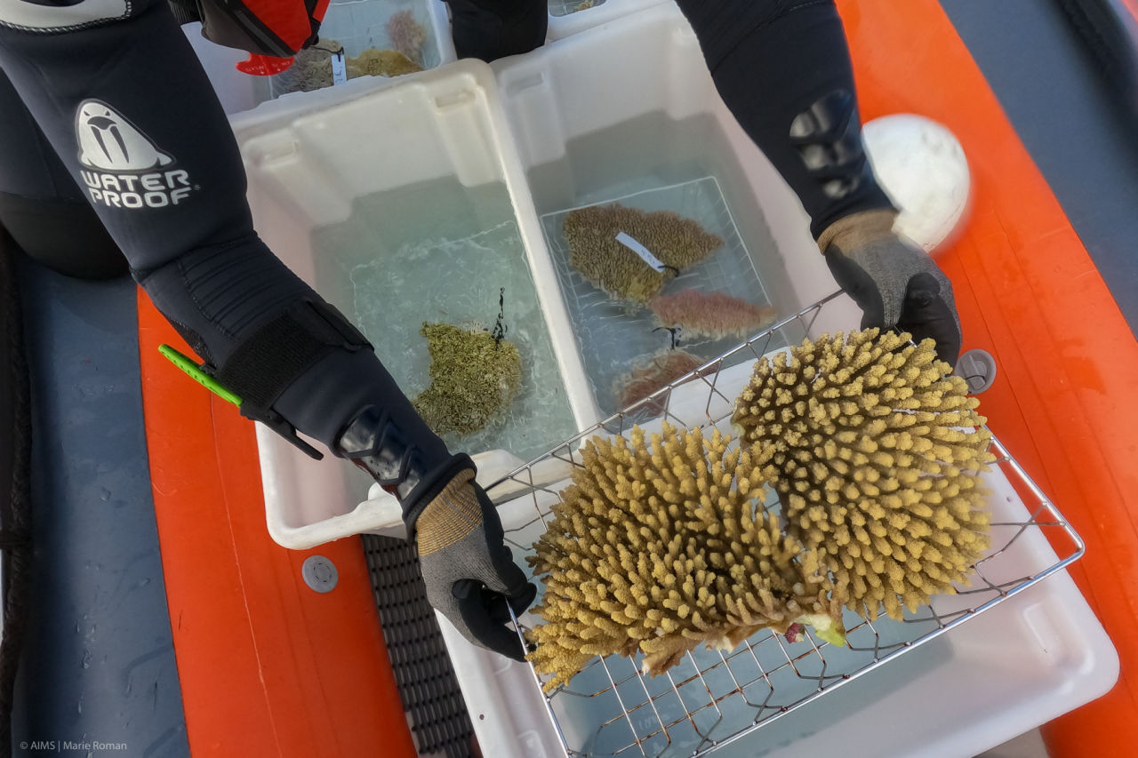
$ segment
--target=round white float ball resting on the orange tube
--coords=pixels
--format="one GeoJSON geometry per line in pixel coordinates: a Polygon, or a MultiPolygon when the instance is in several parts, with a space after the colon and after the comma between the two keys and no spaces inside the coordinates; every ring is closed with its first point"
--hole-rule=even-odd
{"type": "Polygon", "coordinates": [[[901,212],[894,230],[932,253],[968,209],[972,176],[960,142],[914,114],[874,118],[863,133],[877,180],[901,212]]]}

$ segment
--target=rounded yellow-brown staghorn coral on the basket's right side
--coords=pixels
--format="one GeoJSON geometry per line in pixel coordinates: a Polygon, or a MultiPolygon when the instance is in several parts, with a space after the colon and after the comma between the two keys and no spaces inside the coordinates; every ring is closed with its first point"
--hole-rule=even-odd
{"type": "Polygon", "coordinates": [[[762,359],[736,401],[789,532],[825,555],[834,596],[893,618],[953,592],[988,547],[990,434],[932,340],[876,329],[762,359]]]}

